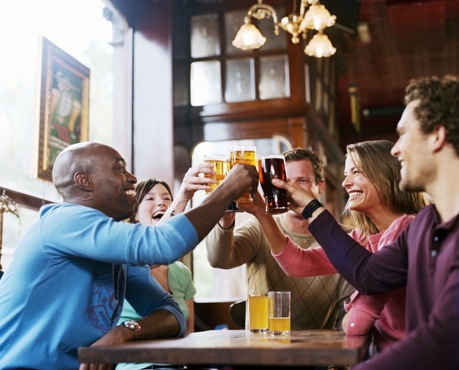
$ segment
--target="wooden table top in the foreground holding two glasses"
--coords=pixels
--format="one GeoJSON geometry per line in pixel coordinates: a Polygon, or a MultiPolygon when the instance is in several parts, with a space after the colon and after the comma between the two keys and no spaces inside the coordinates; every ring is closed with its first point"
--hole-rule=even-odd
{"type": "Polygon", "coordinates": [[[363,360],[369,345],[370,336],[347,337],[341,330],[293,331],[285,339],[247,330],[209,330],[183,338],[81,347],[78,358],[82,363],[347,366],[363,360]]]}

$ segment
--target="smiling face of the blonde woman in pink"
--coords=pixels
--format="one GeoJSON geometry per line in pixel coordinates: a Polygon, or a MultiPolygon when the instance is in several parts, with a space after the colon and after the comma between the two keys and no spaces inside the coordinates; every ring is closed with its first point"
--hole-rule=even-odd
{"type": "Polygon", "coordinates": [[[347,207],[371,218],[371,214],[374,211],[379,212],[383,204],[375,185],[359,170],[361,162],[356,154],[354,154],[354,160],[350,155],[347,155],[345,179],[342,183],[349,195],[347,207]]]}

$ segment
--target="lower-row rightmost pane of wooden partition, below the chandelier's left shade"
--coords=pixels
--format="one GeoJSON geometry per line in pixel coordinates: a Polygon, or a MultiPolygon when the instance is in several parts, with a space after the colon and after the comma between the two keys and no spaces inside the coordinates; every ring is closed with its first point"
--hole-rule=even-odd
{"type": "Polygon", "coordinates": [[[263,56],[259,59],[259,98],[288,98],[289,63],[287,55],[263,56]]]}

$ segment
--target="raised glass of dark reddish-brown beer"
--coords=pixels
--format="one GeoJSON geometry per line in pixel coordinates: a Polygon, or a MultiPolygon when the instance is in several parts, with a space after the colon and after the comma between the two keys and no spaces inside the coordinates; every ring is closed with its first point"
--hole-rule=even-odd
{"type": "Polygon", "coordinates": [[[266,213],[278,215],[289,210],[287,192],[271,184],[271,179],[279,178],[287,181],[285,159],[283,155],[267,155],[258,163],[259,183],[262,185],[266,213]]]}

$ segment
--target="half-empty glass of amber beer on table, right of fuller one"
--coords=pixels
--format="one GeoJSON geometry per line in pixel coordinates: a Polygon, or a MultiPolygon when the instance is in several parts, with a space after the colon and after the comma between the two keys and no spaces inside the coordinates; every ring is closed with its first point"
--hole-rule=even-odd
{"type": "Polygon", "coordinates": [[[290,292],[268,292],[269,334],[290,336],[290,292]]]}

